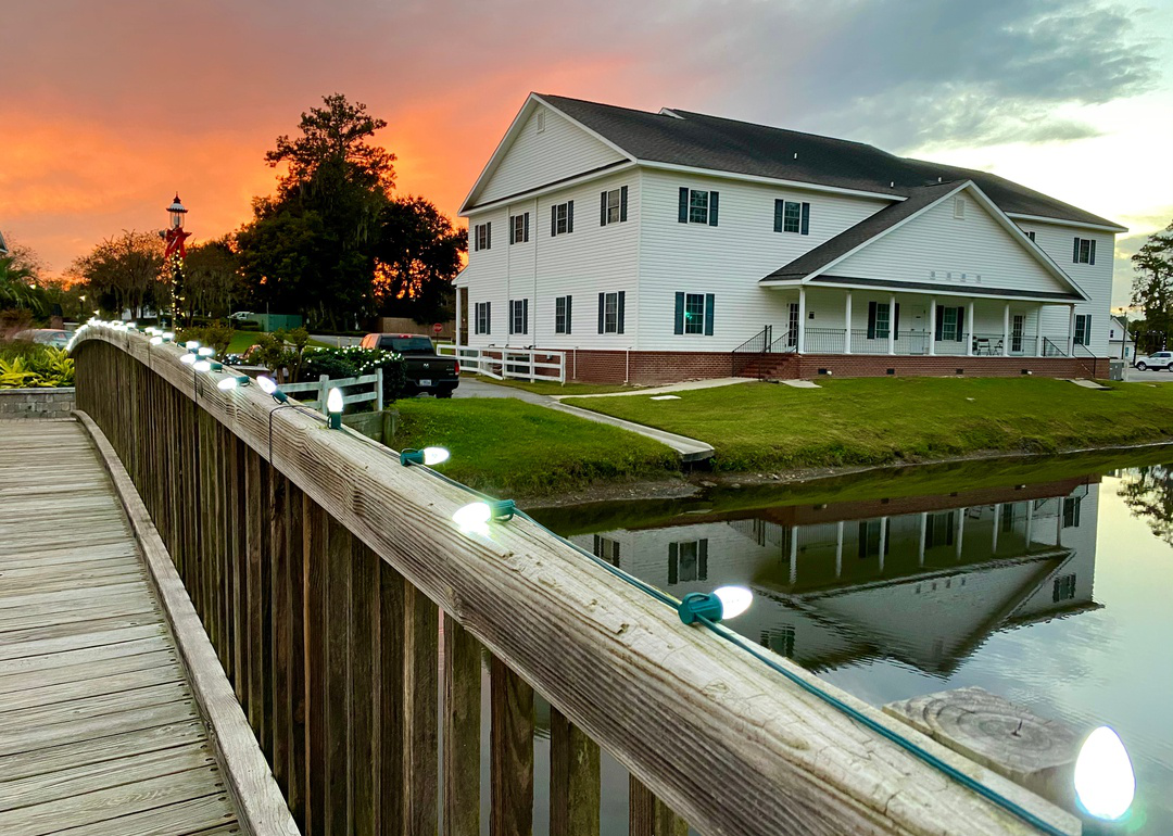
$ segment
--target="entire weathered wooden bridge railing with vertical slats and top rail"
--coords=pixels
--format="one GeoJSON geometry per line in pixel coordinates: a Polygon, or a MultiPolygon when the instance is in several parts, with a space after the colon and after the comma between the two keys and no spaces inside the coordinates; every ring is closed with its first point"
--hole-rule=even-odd
{"type": "Polygon", "coordinates": [[[631,772],[633,836],[684,821],[738,836],[1036,832],[538,526],[461,531],[469,496],[386,448],[256,386],[194,386],[178,349],[138,334],[91,326],[74,354],[79,409],[137,487],[306,834],[434,834],[441,797],[443,834],[481,831],[482,654],[491,834],[531,831],[535,692],[551,705],[537,789],[556,836],[599,832],[598,747],[631,772]]]}

